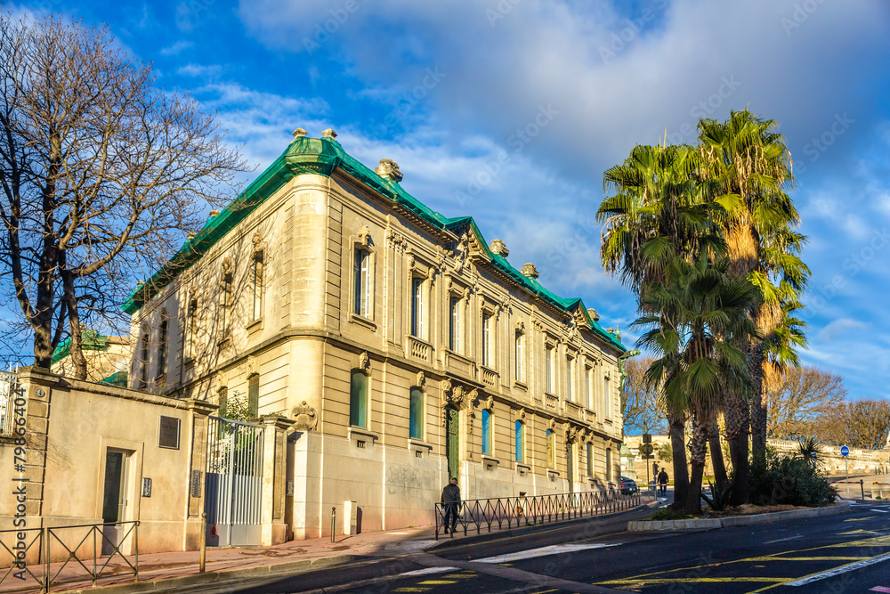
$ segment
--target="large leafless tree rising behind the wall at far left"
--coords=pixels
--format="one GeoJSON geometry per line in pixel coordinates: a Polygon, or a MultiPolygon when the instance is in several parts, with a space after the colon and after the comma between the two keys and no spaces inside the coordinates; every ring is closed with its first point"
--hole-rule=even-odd
{"type": "Polygon", "coordinates": [[[155,86],[108,28],[0,14],[0,276],[35,364],[107,322],[244,171],[214,117],[155,86]]]}

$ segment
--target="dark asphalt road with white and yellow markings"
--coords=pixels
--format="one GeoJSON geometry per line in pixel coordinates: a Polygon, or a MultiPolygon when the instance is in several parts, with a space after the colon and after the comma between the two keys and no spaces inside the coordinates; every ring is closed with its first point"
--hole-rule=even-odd
{"type": "Polygon", "coordinates": [[[712,531],[623,532],[628,519],[649,513],[455,541],[427,553],[216,591],[890,592],[888,505],[856,504],[837,516],[712,531]]]}

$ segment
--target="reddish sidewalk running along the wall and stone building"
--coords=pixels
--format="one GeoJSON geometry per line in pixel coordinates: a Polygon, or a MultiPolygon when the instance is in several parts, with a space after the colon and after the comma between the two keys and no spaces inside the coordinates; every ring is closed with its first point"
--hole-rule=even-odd
{"type": "MultiPolygon", "coordinates": [[[[644,504],[645,505],[645,504],[644,504]]],[[[621,512],[615,512],[621,513],[621,512]]],[[[612,517],[615,513],[603,514],[593,518],[612,517]]],[[[491,534],[509,536],[517,530],[522,532],[537,528],[566,525],[570,522],[578,522],[592,517],[575,520],[564,520],[537,525],[531,528],[514,528],[513,530],[492,529],[491,534]]],[[[481,534],[487,535],[487,529],[482,529],[481,534]]],[[[317,538],[308,541],[289,541],[271,547],[246,547],[233,549],[207,549],[206,574],[198,573],[198,551],[147,553],[139,556],[139,582],[134,582],[133,574],[120,576],[101,577],[98,586],[93,588],[93,582],[89,574],[77,564],[70,561],[62,573],[54,579],[51,592],[96,592],[107,594],[113,592],[159,592],[181,589],[189,584],[208,586],[216,581],[229,582],[239,578],[261,574],[278,574],[285,572],[301,572],[311,567],[337,566],[347,563],[355,563],[362,560],[372,560],[375,557],[397,557],[419,553],[431,549],[437,544],[462,539],[476,538],[475,529],[468,530],[467,535],[458,533],[454,539],[440,534],[440,540],[435,541],[435,526],[428,525],[419,528],[403,528],[384,532],[362,533],[354,536],[337,536],[335,542],[330,538],[317,538]],[[163,582],[158,582],[162,580],[163,582]],[[172,580],[172,581],[171,581],[172,580]]],[[[127,557],[130,563],[134,563],[133,557],[127,557]]],[[[100,561],[101,563],[101,561],[100,561]]],[[[53,563],[50,566],[54,575],[59,571],[61,563],[53,563]]],[[[92,565],[91,563],[86,564],[92,565]]],[[[31,567],[37,573],[40,567],[31,567]]],[[[129,570],[120,557],[109,562],[103,574],[114,574],[118,571],[129,570]]],[[[0,577],[5,573],[0,569],[0,577]]],[[[28,582],[20,582],[8,576],[0,583],[0,594],[7,592],[36,592],[36,587],[30,577],[28,582]],[[22,585],[29,588],[23,589],[22,585]]]]}

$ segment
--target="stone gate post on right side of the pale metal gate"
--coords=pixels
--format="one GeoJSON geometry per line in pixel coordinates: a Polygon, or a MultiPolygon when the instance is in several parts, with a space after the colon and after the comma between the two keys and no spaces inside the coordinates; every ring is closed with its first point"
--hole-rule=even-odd
{"type": "Polygon", "coordinates": [[[285,480],[287,478],[287,432],[295,419],[266,415],[263,425],[263,513],[260,543],[264,546],[287,540],[284,523],[285,480]]]}

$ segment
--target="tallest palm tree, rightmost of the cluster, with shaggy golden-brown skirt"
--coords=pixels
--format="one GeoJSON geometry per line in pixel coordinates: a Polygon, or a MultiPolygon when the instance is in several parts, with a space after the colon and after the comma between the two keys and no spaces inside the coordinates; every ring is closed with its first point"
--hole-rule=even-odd
{"type": "MultiPolygon", "coordinates": [[[[809,270],[798,254],[804,236],[793,231],[799,216],[786,190],[794,182],[791,157],[773,120],[757,118],[748,110],[733,111],[730,119],[699,122],[700,155],[707,167],[713,199],[724,210],[719,223],[727,243],[729,274],[748,279],[759,289],[760,305],[751,314],[756,336],[769,336],[779,324],[782,281],[798,293],[805,287],[809,270]]],[[[736,482],[732,503],[748,501],[748,434],[751,408],[760,431],[765,416],[762,397],[765,346],[750,338],[742,346],[748,355],[751,394],[754,402],[736,391],[725,395],[724,419],[736,482]]],[[[756,441],[757,455],[765,439],[756,441]]]]}

